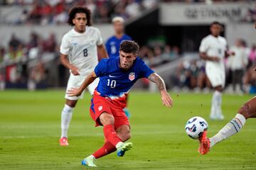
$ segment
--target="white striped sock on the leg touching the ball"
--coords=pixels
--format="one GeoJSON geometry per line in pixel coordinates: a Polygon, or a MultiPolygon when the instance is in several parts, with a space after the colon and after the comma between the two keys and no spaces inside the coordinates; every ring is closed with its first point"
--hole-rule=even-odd
{"type": "Polygon", "coordinates": [[[245,117],[238,113],[235,118],[225,125],[215,136],[210,137],[210,147],[213,147],[218,142],[221,142],[228,137],[235,135],[245,125],[245,117]]]}

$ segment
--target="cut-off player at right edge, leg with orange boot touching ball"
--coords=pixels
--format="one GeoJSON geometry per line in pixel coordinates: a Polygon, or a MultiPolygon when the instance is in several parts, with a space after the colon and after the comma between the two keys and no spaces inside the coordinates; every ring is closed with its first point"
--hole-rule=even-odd
{"type": "MultiPolygon", "coordinates": [[[[256,67],[254,71],[256,71],[256,67]]],[[[208,138],[206,137],[207,131],[203,132],[203,135],[199,139],[200,147],[198,151],[201,154],[207,154],[210,148],[218,142],[238,133],[248,118],[256,118],[256,96],[241,106],[235,118],[225,125],[215,136],[208,138]]]]}

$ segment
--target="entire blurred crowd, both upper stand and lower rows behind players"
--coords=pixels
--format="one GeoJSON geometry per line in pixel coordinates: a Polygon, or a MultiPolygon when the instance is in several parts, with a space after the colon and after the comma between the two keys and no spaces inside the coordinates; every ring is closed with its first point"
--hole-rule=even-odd
{"type": "MultiPolygon", "coordinates": [[[[188,3],[220,2],[220,0],[184,1],[188,3]]],[[[44,25],[66,24],[68,9],[74,5],[90,8],[92,21],[95,23],[110,23],[114,16],[122,16],[124,19],[138,16],[143,10],[154,8],[158,2],[158,0],[5,0],[0,1],[0,5],[29,6],[29,8],[24,8],[22,15],[14,23],[44,25]]],[[[248,9],[248,13],[251,18],[249,21],[256,21],[255,6],[248,9]]],[[[0,89],[4,89],[4,86],[16,88],[28,86],[28,89],[65,86],[69,73],[59,62],[58,43],[59,40],[56,40],[53,33],[49,33],[46,39],[38,33],[31,33],[28,42],[13,34],[8,47],[0,47],[0,89]]],[[[141,45],[139,57],[142,57],[154,69],[179,59],[183,55],[180,49],[178,45],[149,42],[141,45]]],[[[252,71],[252,67],[256,65],[256,45],[248,47],[246,40],[237,40],[230,45],[230,51],[234,51],[235,56],[225,60],[225,90],[230,93],[256,94],[256,74],[252,71]]],[[[206,92],[210,90],[205,62],[199,57],[195,60],[182,60],[169,80],[171,81],[170,87],[174,90],[206,92]]]]}

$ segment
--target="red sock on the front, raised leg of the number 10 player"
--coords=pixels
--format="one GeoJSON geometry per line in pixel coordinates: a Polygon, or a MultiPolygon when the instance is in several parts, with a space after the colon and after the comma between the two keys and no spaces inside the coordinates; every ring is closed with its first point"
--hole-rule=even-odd
{"type": "Polygon", "coordinates": [[[103,127],[103,132],[107,140],[114,146],[117,145],[118,142],[122,142],[120,138],[117,136],[117,132],[114,130],[113,125],[105,125],[103,127]]]}

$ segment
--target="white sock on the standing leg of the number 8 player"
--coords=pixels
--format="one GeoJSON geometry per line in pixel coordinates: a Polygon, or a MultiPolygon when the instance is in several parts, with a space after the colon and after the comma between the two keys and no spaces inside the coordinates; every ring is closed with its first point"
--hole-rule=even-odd
{"type": "Polygon", "coordinates": [[[68,126],[73,115],[73,109],[66,104],[63,108],[61,113],[61,137],[68,137],[68,126]]]}

